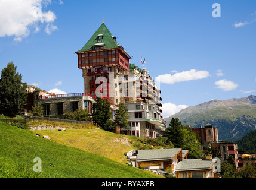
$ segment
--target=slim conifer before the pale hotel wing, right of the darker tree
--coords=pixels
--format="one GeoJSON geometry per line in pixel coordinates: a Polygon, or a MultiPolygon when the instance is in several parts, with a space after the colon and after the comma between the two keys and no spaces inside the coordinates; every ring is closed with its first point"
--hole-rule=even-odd
{"type": "Polygon", "coordinates": [[[124,103],[119,103],[118,104],[118,110],[116,110],[115,114],[115,124],[117,124],[120,127],[120,134],[122,128],[125,126],[129,126],[128,120],[129,115],[127,113],[127,107],[124,105],[124,103]]]}

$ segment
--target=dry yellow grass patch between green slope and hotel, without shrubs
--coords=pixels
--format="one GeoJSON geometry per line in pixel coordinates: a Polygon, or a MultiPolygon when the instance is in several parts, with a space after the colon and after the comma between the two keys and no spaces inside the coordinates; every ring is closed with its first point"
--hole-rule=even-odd
{"type": "Polygon", "coordinates": [[[115,142],[123,136],[101,129],[66,129],[66,131],[34,131],[47,135],[51,140],[70,147],[99,154],[117,162],[125,163],[125,152],[134,149],[131,146],[115,142]]]}

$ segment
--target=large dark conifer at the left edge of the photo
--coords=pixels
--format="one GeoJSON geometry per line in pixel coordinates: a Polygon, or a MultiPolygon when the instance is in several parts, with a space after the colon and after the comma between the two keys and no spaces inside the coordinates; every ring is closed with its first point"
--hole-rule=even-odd
{"type": "Polygon", "coordinates": [[[2,69],[0,80],[0,112],[8,116],[16,115],[27,99],[27,84],[16,72],[17,66],[10,62],[2,69]]]}

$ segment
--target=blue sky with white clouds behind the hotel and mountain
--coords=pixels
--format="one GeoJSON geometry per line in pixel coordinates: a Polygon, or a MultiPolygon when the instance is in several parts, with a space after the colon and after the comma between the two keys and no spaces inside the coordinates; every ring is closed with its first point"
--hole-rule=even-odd
{"type": "Polygon", "coordinates": [[[0,0],[0,69],[23,81],[84,91],[75,52],[102,19],[162,91],[163,116],[212,99],[256,95],[256,1],[0,0]],[[214,3],[220,16],[213,17],[214,3]],[[36,7],[35,7],[36,6],[36,7]],[[36,12],[35,12],[36,11],[36,12]]]}

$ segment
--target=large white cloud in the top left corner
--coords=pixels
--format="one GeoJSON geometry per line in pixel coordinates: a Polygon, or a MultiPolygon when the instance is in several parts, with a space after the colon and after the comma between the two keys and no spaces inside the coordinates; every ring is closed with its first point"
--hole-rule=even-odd
{"type": "Polygon", "coordinates": [[[56,30],[52,24],[56,15],[42,11],[49,4],[50,0],[0,0],[0,37],[14,36],[14,41],[20,42],[31,31],[38,33],[44,23],[46,32],[56,30]]]}

